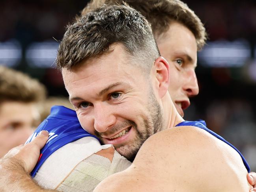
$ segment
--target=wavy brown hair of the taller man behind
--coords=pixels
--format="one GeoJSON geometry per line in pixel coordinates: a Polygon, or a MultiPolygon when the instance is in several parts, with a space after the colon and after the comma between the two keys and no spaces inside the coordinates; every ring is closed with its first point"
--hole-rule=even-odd
{"type": "MultiPolygon", "coordinates": [[[[201,50],[207,40],[206,29],[198,16],[187,4],[180,0],[91,0],[81,11],[81,16],[103,4],[127,3],[151,23],[153,34],[157,39],[176,21],[186,26],[196,37],[197,49],[201,50]]],[[[78,19],[79,16],[76,17],[78,19]]]]}

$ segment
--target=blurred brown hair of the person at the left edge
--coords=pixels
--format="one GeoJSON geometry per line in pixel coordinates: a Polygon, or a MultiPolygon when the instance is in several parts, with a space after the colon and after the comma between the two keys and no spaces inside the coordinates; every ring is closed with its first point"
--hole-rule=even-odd
{"type": "Polygon", "coordinates": [[[38,80],[28,75],[0,66],[0,103],[18,101],[37,103],[46,97],[46,89],[38,80]]]}

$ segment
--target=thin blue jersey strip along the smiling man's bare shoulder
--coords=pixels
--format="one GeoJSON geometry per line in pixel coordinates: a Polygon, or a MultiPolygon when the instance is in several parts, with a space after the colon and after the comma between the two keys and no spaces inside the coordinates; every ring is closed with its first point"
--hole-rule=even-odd
{"type": "Polygon", "coordinates": [[[215,136],[216,138],[222,140],[223,142],[225,142],[226,144],[230,145],[230,147],[234,148],[235,151],[237,151],[237,153],[239,153],[239,155],[241,156],[242,160],[243,160],[243,164],[245,165],[246,169],[248,172],[250,172],[250,166],[247,163],[247,161],[245,160],[245,158],[243,157],[243,155],[240,153],[240,151],[238,151],[237,148],[235,148],[232,144],[230,144],[229,142],[227,142],[222,136],[219,136],[217,133],[213,132],[212,130],[208,129],[206,127],[206,122],[203,120],[200,121],[183,121],[181,123],[179,123],[178,125],[176,125],[176,127],[178,126],[194,126],[194,127],[198,127],[200,129],[204,129],[207,132],[209,132],[210,134],[212,134],[213,136],[215,136]]]}

